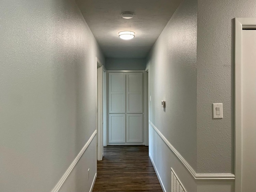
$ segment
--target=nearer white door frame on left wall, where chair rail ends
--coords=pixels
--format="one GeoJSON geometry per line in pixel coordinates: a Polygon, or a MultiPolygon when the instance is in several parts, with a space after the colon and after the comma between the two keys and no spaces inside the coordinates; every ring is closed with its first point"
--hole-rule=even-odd
{"type": "Polygon", "coordinates": [[[97,160],[103,158],[103,68],[96,57],[96,128],[97,128],[97,160]]]}

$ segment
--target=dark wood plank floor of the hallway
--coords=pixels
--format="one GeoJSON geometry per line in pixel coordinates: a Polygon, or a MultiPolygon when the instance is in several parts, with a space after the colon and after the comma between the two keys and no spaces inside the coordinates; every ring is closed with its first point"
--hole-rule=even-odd
{"type": "Polygon", "coordinates": [[[93,192],[162,192],[148,147],[104,147],[93,192]]]}

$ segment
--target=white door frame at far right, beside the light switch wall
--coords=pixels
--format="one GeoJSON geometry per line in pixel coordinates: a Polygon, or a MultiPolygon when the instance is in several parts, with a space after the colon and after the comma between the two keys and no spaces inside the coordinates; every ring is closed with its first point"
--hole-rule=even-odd
{"type": "Polygon", "coordinates": [[[234,143],[235,143],[235,192],[242,192],[242,30],[256,29],[256,18],[235,18],[234,27],[234,143]]]}

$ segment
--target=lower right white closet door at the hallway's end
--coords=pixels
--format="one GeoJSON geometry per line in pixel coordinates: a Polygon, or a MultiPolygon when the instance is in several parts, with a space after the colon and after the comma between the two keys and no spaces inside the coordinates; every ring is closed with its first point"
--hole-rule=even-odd
{"type": "Polygon", "coordinates": [[[126,114],[126,142],[143,143],[143,114],[126,114]]]}

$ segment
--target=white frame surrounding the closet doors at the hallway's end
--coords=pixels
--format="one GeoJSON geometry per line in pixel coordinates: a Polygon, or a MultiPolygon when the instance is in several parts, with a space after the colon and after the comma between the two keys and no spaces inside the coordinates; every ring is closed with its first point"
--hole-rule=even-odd
{"type": "MultiPolygon", "coordinates": [[[[146,97],[146,94],[145,94],[145,91],[146,91],[146,89],[145,89],[145,82],[146,82],[146,78],[145,78],[145,70],[107,70],[107,119],[109,118],[109,110],[108,110],[108,108],[109,108],[109,105],[108,105],[108,86],[109,86],[109,82],[108,82],[108,78],[109,78],[109,76],[108,76],[108,74],[109,73],[119,73],[119,72],[124,72],[124,73],[127,73],[127,72],[142,72],[143,73],[143,143],[134,143],[134,145],[146,145],[146,128],[145,128],[145,126],[146,126],[146,118],[145,118],[145,114],[146,114],[146,104],[145,104],[145,102],[146,102],[146,99],[145,99],[145,97],[146,97]]],[[[107,123],[107,126],[106,126],[106,128],[107,128],[107,144],[108,145],[112,145],[111,143],[109,143],[108,142],[108,128],[109,127],[109,125],[108,125],[108,123],[107,123]]],[[[126,144],[126,143],[121,143],[122,145],[130,145],[130,144],[126,144]]]]}

